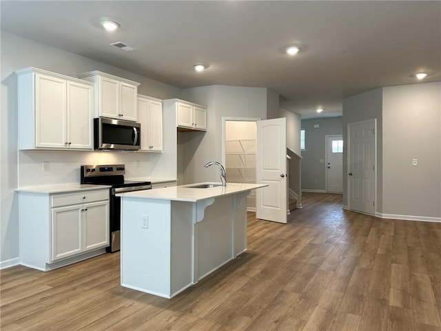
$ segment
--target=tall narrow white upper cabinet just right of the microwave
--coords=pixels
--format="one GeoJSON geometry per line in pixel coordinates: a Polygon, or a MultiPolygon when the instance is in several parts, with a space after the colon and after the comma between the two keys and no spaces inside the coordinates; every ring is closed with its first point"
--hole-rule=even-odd
{"type": "Polygon", "coordinates": [[[163,103],[138,94],[138,121],[141,123],[141,151],[163,150],[163,103]]]}

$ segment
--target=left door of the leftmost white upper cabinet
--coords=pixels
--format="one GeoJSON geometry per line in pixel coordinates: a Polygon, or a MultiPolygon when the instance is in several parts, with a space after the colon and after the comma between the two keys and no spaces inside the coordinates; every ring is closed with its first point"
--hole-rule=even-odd
{"type": "Polygon", "coordinates": [[[65,148],[66,81],[35,75],[35,147],[65,148]]]}

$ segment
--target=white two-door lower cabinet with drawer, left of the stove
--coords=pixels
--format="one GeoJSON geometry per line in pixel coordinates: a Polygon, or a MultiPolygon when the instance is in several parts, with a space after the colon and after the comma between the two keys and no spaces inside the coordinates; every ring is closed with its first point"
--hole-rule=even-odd
{"type": "Polygon", "coordinates": [[[109,189],[19,192],[21,264],[43,271],[104,252],[110,243],[109,189]]]}

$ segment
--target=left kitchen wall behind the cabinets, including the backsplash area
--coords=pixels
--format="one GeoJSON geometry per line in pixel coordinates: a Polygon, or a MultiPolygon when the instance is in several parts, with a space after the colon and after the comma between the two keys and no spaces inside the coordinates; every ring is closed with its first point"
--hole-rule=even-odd
{"type": "Polygon", "coordinates": [[[142,77],[105,63],[80,57],[57,48],[1,31],[1,153],[0,153],[0,268],[18,263],[18,205],[14,192],[20,186],[53,183],[79,183],[79,165],[93,162],[121,162],[128,177],[146,177],[163,169],[158,155],[133,152],[17,152],[17,77],[14,70],[34,66],[75,76],[100,70],[141,83],[139,93],[169,99],[178,97],[179,88],[142,77]],[[44,172],[43,161],[50,161],[44,172]]]}

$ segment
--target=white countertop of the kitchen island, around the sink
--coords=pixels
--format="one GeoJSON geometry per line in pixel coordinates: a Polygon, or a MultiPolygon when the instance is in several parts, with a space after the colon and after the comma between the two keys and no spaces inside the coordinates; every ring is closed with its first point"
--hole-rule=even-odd
{"type": "MultiPolygon", "coordinates": [[[[267,184],[227,183],[226,187],[216,186],[214,188],[190,188],[191,185],[203,185],[207,183],[194,183],[189,185],[171,186],[169,188],[155,188],[154,190],[142,190],[116,194],[117,197],[133,197],[172,201],[196,202],[203,199],[221,197],[223,195],[236,194],[263,188],[267,184]]],[[[216,183],[219,184],[220,183],[216,183]]]]}

